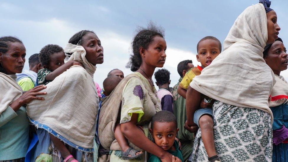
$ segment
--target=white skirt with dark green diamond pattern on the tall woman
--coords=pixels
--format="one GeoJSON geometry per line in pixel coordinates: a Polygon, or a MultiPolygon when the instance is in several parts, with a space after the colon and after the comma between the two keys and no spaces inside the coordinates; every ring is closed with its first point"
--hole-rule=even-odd
{"type": "MultiPolygon", "coordinates": [[[[213,115],[215,147],[221,161],[272,160],[272,123],[268,113],[215,101],[213,115]]],[[[199,129],[189,160],[207,159],[199,129]]]]}

